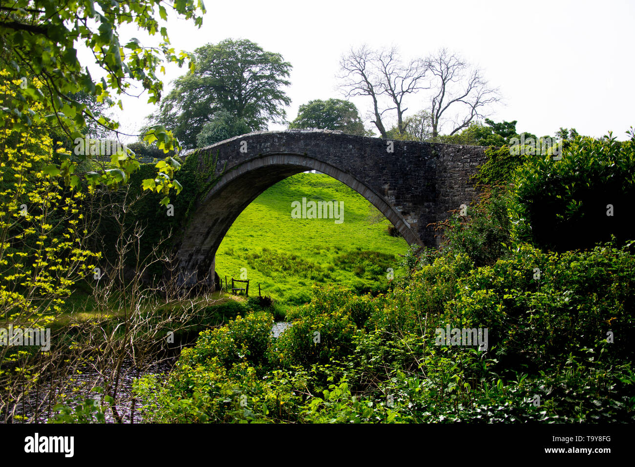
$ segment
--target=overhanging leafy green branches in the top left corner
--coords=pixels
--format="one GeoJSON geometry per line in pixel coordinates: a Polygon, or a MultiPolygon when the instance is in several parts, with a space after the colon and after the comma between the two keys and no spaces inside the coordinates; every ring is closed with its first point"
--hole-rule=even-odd
{"type": "MultiPolygon", "coordinates": [[[[71,141],[83,138],[81,129],[87,121],[120,133],[116,121],[94,114],[86,100],[82,102],[74,95],[85,91],[97,102],[123,109],[117,97],[128,94],[131,86],[138,83],[148,91],[149,102],[159,102],[163,83],[157,77],[157,71],[159,67],[163,69],[161,62],[166,60],[182,65],[190,56],[185,52],[176,53],[171,48],[167,29],[154,17],[155,8],[163,20],[167,19],[166,8],[171,8],[186,19],[194,19],[198,27],[203,18],[196,15],[197,10],[205,11],[200,0],[2,1],[0,69],[6,69],[9,83],[19,84],[13,85],[12,97],[5,99],[0,108],[0,126],[11,125],[19,132],[48,122],[57,125],[71,141]],[[144,47],[133,38],[121,44],[118,30],[123,24],[134,24],[150,35],[159,32],[161,42],[158,46],[144,47]],[[84,47],[94,57],[104,75],[99,81],[91,77],[88,67],[79,60],[79,47],[84,47]]],[[[174,149],[175,141],[162,126],[150,130],[146,137],[148,142],[157,140],[161,149],[174,149]]],[[[120,154],[114,158],[107,172],[83,173],[76,171],[77,159],[86,159],[86,155],[67,153],[60,156],[62,160],[55,170],[73,187],[79,187],[80,179],[87,180],[91,186],[116,185],[126,182],[128,175],[138,167],[130,156],[120,154]]],[[[164,177],[159,177],[159,183],[154,187],[157,192],[166,194],[165,200],[172,188],[178,191],[178,185],[164,177]]]]}

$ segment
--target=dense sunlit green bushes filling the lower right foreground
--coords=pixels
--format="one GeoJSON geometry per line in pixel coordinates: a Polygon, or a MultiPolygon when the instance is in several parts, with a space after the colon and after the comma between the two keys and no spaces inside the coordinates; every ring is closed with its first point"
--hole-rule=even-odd
{"type": "Polygon", "coordinates": [[[271,315],[248,314],[138,391],[161,395],[161,421],[184,405],[198,421],[629,421],[630,248],[525,245],[485,267],[446,255],[379,297],[318,289],[277,341],[271,315]],[[488,328],[488,349],[437,346],[448,324],[488,328]]]}

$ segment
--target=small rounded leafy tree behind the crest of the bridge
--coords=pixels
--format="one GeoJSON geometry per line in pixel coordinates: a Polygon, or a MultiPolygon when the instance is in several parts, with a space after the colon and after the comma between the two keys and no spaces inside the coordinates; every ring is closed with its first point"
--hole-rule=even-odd
{"type": "Polygon", "coordinates": [[[300,105],[298,116],[289,128],[323,128],[340,130],[350,135],[367,134],[355,104],[342,99],[311,100],[300,105]]]}

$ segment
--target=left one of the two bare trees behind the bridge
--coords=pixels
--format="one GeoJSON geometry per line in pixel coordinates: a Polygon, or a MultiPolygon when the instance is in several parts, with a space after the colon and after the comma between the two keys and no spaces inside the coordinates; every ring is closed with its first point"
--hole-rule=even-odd
{"type": "Polygon", "coordinates": [[[373,123],[382,138],[387,138],[384,114],[395,111],[399,135],[406,133],[403,114],[404,98],[424,89],[425,63],[414,59],[404,64],[397,48],[370,50],[364,45],[351,49],[340,60],[340,79],[347,98],[368,96],[373,100],[373,123]],[[389,104],[384,105],[384,97],[389,104]]]}

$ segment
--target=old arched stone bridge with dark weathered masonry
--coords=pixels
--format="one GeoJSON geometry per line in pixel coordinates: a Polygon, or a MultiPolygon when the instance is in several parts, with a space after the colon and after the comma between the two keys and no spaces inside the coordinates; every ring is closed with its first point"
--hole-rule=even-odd
{"type": "Polygon", "coordinates": [[[180,283],[213,287],[214,257],[234,220],[267,188],[306,170],[326,173],[364,196],[409,244],[436,245],[429,224],[474,199],[470,177],[485,162],[484,149],[330,130],[255,132],[200,149],[201,170],[205,158],[218,158],[208,175],[218,180],[199,197],[182,231],[180,283]]]}

